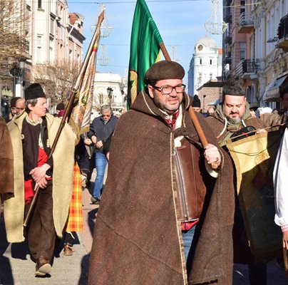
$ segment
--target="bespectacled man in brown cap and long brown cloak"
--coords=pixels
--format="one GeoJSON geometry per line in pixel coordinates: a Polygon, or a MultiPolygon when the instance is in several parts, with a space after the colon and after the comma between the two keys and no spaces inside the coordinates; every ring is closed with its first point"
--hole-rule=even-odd
{"type": "Polygon", "coordinates": [[[173,61],[151,66],[115,128],[90,285],[232,284],[232,165],[196,113],[210,142],[202,147],[184,75],[173,61]]]}

